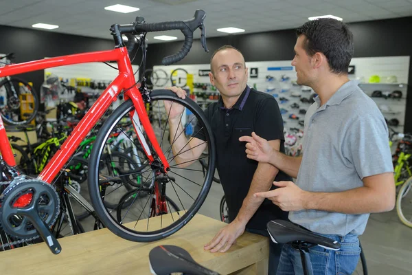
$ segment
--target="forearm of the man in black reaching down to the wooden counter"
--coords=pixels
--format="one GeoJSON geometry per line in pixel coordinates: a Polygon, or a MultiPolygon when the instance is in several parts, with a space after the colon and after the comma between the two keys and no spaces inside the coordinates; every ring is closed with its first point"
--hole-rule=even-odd
{"type": "Polygon", "coordinates": [[[262,198],[253,197],[253,194],[255,194],[255,192],[270,190],[273,184],[273,179],[275,179],[278,172],[279,170],[271,164],[262,162],[258,164],[247,197],[244,198],[242,208],[240,208],[238,216],[236,217],[238,221],[246,225],[251,217],[253,217],[253,214],[255,214],[256,210],[258,210],[264,200],[262,198]]]}

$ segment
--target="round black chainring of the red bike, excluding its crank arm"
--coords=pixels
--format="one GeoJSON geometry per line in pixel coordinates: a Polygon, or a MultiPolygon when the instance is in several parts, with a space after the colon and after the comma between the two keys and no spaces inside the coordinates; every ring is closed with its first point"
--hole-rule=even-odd
{"type": "Polygon", "coordinates": [[[27,217],[17,214],[19,209],[34,207],[39,217],[50,228],[60,212],[60,199],[53,186],[45,181],[26,179],[10,185],[2,194],[0,226],[10,236],[30,239],[38,236],[34,225],[27,217]],[[21,203],[22,197],[31,197],[21,203]]]}

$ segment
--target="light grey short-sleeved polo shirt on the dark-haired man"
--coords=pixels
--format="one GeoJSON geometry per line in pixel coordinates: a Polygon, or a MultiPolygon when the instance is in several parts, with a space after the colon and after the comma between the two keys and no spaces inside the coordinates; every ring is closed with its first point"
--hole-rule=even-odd
{"type": "MultiPolygon", "coordinates": [[[[303,158],[296,184],[311,192],[341,192],[363,186],[363,177],[393,172],[388,129],[376,103],[356,82],[345,83],[305,115],[303,158]]],[[[290,221],[320,234],[362,234],[369,214],[319,210],[289,213],[290,221]]]]}

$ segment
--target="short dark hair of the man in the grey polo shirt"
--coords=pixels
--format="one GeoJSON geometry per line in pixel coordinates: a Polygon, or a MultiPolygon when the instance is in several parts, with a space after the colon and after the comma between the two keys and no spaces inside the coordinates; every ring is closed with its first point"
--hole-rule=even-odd
{"type": "Polygon", "coordinates": [[[328,58],[331,72],[347,74],[354,55],[354,39],[345,23],[330,18],[316,19],[301,25],[296,34],[306,36],[304,48],[308,56],[321,52],[328,58]]]}

